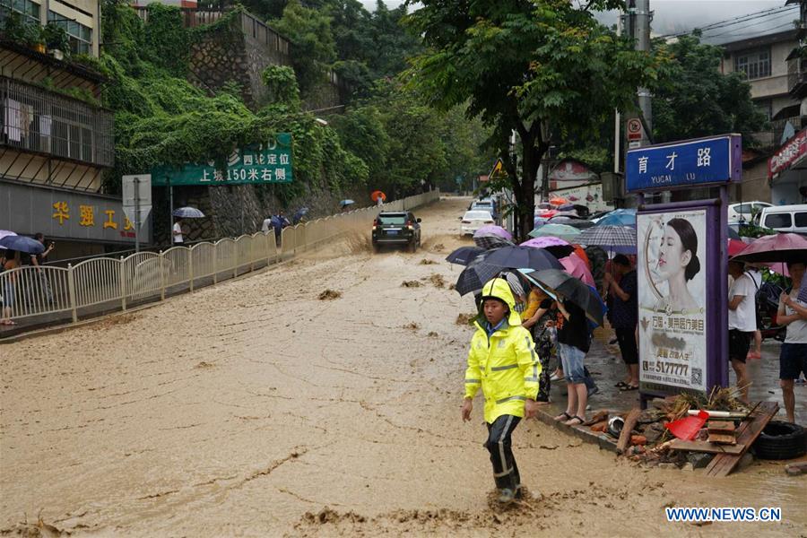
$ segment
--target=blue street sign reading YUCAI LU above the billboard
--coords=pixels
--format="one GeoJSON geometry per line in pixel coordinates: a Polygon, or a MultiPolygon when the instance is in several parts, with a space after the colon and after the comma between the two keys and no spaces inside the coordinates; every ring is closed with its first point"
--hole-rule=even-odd
{"type": "Polygon", "coordinates": [[[739,134],[630,150],[625,167],[628,192],[739,181],[741,172],[739,134]]]}

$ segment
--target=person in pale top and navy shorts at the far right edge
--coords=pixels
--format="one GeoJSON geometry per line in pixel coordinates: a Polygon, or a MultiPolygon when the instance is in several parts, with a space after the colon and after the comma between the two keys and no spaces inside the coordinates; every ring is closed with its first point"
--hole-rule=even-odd
{"type": "Polygon", "coordinates": [[[807,265],[803,262],[787,264],[793,287],[790,293],[785,292],[779,298],[777,315],[777,322],[787,326],[785,343],[779,351],[779,386],[788,422],[795,422],[794,382],[802,372],[807,377],[807,301],[799,299],[805,268],[807,265]]]}

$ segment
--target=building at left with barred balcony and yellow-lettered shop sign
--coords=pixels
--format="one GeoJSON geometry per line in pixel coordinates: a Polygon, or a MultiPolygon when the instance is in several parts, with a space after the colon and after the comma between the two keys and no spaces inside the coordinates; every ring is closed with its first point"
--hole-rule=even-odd
{"type": "Polygon", "coordinates": [[[44,233],[58,245],[52,259],[134,244],[120,197],[103,194],[115,163],[104,79],[74,61],[97,57],[99,36],[98,0],[0,0],[0,229],[44,233]],[[9,18],[25,33],[10,33],[9,18]],[[69,50],[37,41],[48,24],[65,29],[69,50]]]}

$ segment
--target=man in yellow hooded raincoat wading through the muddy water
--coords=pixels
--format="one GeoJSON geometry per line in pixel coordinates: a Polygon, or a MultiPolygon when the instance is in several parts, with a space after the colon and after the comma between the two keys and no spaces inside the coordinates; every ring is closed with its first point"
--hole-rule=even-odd
{"type": "Polygon", "coordinates": [[[493,478],[499,489],[499,502],[509,503],[521,496],[521,477],[513,456],[511,436],[522,418],[538,411],[538,377],[541,363],[533,338],[521,326],[514,309],[516,299],[504,278],[494,278],[482,289],[476,333],[468,351],[465,371],[463,420],[471,420],[473,396],[480,386],[485,396],[485,422],[493,478]]]}

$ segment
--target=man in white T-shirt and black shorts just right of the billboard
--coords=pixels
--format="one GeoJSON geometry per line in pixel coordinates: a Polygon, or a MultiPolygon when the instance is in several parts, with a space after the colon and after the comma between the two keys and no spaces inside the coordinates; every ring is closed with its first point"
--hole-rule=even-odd
{"type": "Polygon", "coordinates": [[[751,348],[751,338],[757,330],[757,287],[751,276],[744,273],[740,262],[729,262],[729,274],[734,282],[729,290],[729,360],[737,374],[742,401],[748,403],[748,372],[745,359],[751,348]]]}

